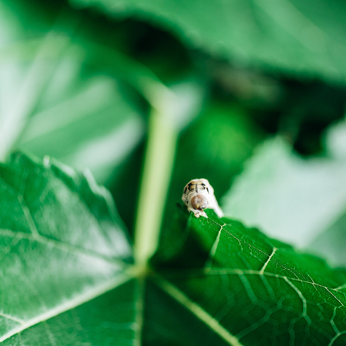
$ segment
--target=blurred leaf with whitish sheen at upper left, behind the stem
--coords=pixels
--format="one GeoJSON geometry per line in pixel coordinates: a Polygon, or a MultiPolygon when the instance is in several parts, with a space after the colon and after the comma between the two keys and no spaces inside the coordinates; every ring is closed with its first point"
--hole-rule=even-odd
{"type": "MultiPolygon", "coordinates": [[[[1,6],[0,158],[13,149],[48,154],[104,183],[145,132],[127,84],[105,73],[101,57],[117,50],[105,55],[92,25],[64,4],[1,6]]],[[[113,59],[110,70],[123,63],[113,59]]]]}

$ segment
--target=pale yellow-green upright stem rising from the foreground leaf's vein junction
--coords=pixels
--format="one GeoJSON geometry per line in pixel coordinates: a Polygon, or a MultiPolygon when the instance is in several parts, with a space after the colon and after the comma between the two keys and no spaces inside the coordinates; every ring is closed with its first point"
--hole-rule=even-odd
{"type": "Polygon", "coordinates": [[[153,108],[149,119],[149,138],[135,226],[135,261],[142,268],[146,267],[158,245],[175,155],[177,128],[170,115],[163,114],[164,110],[165,107],[153,108]]]}

